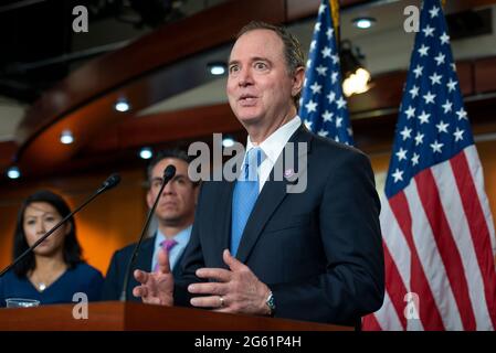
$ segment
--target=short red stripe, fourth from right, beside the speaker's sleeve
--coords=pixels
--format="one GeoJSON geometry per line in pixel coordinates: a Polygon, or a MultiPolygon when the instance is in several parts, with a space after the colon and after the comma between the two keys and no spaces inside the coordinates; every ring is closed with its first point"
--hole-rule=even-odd
{"type": "Polygon", "coordinates": [[[404,296],[407,295],[407,288],[404,287],[397,264],[394,264],[388,246],[386,245],[386,243],[382,244],[384,248],[384,267],[388,269],[386,271],[386,290],[388,291],[389,298],[391,299],[391,302],[398,313],[401,327],[403,328],[403,330],[407,330],[407,318],[403,314],[405,306],[404,296]]]}

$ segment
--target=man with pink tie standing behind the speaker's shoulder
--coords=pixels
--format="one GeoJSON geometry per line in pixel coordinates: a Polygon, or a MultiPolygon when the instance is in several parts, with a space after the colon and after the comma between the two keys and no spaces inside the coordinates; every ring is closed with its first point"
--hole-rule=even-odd
{"type": "MultiPolygon", "coordinates": [[[[182,150],[163,150],[148,165],[149,190],[147,204],[151,207],[161,186],[163,170],[167,165],[176,167],[175,178],[163,189],[160,201],[155,210],[158,227],[152,237],[141,243],[134,269],[152,271],[157,268],[157,257],[161,248],[168,252],[172,275],[179,279],[182,274],[181,261],[184,248],[189,243],[194,218],[194,207],[198,199],[199,184],[188,178],[188,165],[191,158],[182,150]]],[[[102,292],[103,300],[120,298],[124,277],[136,244],[117,250],[112,257],[102,292]]],[[[140,300],[133,296],[133,288],[138,282],[130,278],[126,289],[128,300],[140,300]]]]}

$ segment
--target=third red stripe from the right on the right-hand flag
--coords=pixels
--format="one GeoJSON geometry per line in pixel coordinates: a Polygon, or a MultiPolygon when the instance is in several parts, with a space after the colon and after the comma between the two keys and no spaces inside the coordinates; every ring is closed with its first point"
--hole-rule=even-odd
{"type": "Polygon", "coordinates": [[[441,313],[434,301],[431,287],[429,287],[428,279],[422,268],[422,264],[416,253],[415,244],[412,235],[412,218],[410,215],[410,207],[407,202],[404,192],[401,191],[394,196],[389,199],[391,211],[398,220],[401,231],[407,239],[411,253],[411,275],[410,275],[410,288],[413,292],[418,293],[422,298],[422,304],[420,306],[420,319],[424,329],[426,330],[444,330],[443,320],[441,313]]]}

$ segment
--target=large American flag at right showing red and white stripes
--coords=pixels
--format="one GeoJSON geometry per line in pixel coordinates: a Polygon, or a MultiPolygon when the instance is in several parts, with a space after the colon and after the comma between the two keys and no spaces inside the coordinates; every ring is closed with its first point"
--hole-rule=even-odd
{"type": "Polygon", "coordinates": [[[386,299],[366,330],[494,330],[495,234],[439,0],[425,0],[382,199],[386,299]]]}

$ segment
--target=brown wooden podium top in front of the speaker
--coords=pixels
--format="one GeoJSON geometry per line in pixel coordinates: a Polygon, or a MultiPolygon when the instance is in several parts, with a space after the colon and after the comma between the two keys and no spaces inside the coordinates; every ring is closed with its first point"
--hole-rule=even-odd
{"type": "Polygon", "coordinates": [[[353,328],[285,319],[166,308],[136,302],[94,302],[76,320],[74,304],[0,309],[1,331],[351,331],[353,328]]]}

